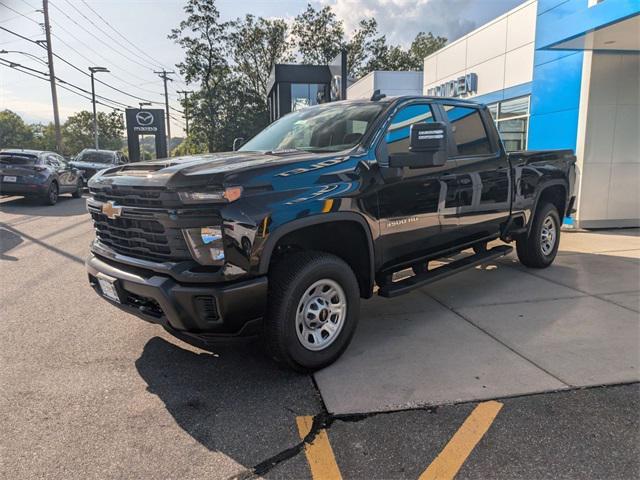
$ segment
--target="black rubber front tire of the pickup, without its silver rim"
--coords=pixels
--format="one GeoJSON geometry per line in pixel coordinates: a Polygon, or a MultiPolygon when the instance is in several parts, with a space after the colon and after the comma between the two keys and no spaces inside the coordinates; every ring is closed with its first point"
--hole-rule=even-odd
{"type": "MultiPolygon", "coordinates": [[[[319,288],[321,288],[320,285],[319,288]]],[[[312,290],[313,293],[315,293],[312,290]]],[[[318,311],[318,310],[315,310],[318,311]]],[[[328,310],[327,310],[328,312],[328,310]]],[[[318,323],[323,325],[332,322],[333,313],[326,313],[324,320],[322,311],[317,315],[318,323]],[[327,318],[329,316],[329,318],[327,318]]],[[[298,372],[312,372],[332,364],[347,348],[358,324],[360,316],[360,289],[355,274],[347,263],[335,255],[321,252],[299,252],[288,255],[277,263],[269,275],[269,300],[267,315],[264,320],[265,346],[269,355],[281,365],[298,372]],[[319,350],[311,350],[303,344],[304,324],[299,323],[298,313],[312,312],[307,310],[315,298],[309,290],[318,282],[329,281],[341,288],[346,305],[346,312],[336,320],[341,328],[333,335],[333,339],[319,350]],[[303,296],[307,296],[309,304],[303,296]],[[300,308],[302,307],[302,309],[300,308]],[[298,332],[299,331],[299,332],[298,332]]],[[[315,317],[314,317],[315,318],[315,317]]],[[[308,320],[305,319],[304,322],[308,320]]],[[[325,330],[318,330],[322,336],[325,330]]],[[[320,341],[328,341],[320,339],[320,341]]],[[[310,338],[307,337],[307,343],[310,338]]],[[[313,345],[311,346],[313,347],[313,345]]],[[[318,344],[319,348],[321,347],[318,344]]]]}

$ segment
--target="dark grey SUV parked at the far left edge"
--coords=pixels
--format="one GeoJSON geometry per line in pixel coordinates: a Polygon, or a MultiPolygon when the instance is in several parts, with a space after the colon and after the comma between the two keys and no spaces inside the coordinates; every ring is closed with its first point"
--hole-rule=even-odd
{"type": "Polygon", "coordinates": [[[0,195],[38,197],[54,205],[61,193],[82,196],[80,172],[61,155],[39,150],[0,151],[0,195]]]}

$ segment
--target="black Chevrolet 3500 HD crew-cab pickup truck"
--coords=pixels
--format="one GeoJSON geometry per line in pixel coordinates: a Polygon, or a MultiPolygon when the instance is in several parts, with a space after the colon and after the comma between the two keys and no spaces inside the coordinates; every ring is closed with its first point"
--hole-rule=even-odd
{"type": "Polygon", "coordinates": [[[470,101],[322,104],[239,151],[94,176],[89,282],[182,338],[262,333],[275,360],[312,371],[346,349],[361,298],[511,251],[488,249],[496,239],[515,241],[524,265],[548,266],[574,179],[573,152],[507,154],[489,111],[470,101]]]}

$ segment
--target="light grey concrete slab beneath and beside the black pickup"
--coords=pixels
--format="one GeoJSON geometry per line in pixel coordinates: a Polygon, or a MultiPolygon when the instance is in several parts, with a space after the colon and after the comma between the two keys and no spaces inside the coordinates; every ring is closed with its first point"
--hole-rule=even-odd
{"type": "Polygon", "coordinates": [[[545,269],[515,255],[363,303],[344,356],[315,375],[332,413],[640,380],[640,231],[563,232],[545,269]]]}

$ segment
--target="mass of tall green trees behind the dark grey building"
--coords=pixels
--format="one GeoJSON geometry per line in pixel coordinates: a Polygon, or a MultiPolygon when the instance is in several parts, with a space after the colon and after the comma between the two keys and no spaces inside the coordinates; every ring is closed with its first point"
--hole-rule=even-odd
{"type": "Polygon", "coordinates": [[[169,38],[185,53],[177,65],[196,90],[182,106],[189,112],[189,138],[172,153],[231,150],[237,137],[251,138],[268,123],[267,86],[276,63],[296,58],[327,64],[347,51],[350,77],[372,70],[422,70],[424,57],[446,39],[420,33],[410,48],[389,45],[373,18],[360,21],[349,40],[331,7],[307,4],[291,27],[284,20],[246,15],[220,19],[215,0],[187,0],[186,17],[169,38]]]}

